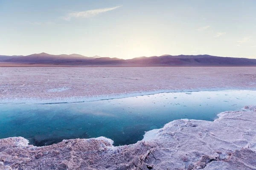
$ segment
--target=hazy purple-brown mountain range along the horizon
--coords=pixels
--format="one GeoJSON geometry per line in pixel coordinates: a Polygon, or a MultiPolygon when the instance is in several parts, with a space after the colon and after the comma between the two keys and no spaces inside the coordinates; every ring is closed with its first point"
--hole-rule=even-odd
{"type": "Polygon", "coordinates": [[[15,64],[98,65],[98,66],[256,66],[256,59],[217,57],[211,55],[162,55],[119,59],[110,57],[86,57],[80,54],[52,55],[47,53],[28,56],[1,56],[0,62],[15,64]]]}

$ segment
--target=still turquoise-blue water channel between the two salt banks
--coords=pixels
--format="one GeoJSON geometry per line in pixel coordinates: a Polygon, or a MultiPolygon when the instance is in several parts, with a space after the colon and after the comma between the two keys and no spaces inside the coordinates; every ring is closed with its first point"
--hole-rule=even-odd
{"type": "Polygon", "coordinates": [[[36,146],[105,136],[132,144],[175,119],[213,121],[222,111],[256,105],[256,91],[161,93],[59,104],[0,104],[0,138],[23,136],[36,146]]]}

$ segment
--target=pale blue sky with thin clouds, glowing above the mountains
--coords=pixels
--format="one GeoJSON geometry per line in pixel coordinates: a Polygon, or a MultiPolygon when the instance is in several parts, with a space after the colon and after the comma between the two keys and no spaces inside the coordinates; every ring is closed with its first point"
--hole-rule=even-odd
{"type": "Polygon", "coordinates": [[[0,55],[256,58],[256,0],[0,0],[0,55]]]}

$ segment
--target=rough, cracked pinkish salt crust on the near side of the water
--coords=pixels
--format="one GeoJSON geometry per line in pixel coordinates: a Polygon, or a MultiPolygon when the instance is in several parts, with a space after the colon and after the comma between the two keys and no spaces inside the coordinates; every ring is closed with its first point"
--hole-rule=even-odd
{"type": "Polygon", "coordinates": [[[128,146],[113,147],[104,137],[45,147],[0,139],[0,170],[255,170],[256,107],[243,110],[214,122],[175,120],[128,146]]]}

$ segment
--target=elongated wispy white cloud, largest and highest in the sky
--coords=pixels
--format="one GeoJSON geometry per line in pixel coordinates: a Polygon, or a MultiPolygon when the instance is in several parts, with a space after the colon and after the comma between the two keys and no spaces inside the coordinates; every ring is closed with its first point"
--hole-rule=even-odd
{"type": "Polygon", "coordinates": [[[116,6],[116,7],[112,7],[112,8],[102,8],[102,9],[93,9],[93,10],[88,10],[88,11],[80,11],[80,12],[71,12],[69,14],[67,14],[67,17],[64,17],[64,20],[71,20],[71,18],[75,17],[75,18],[79,18],[79,17],[83,17],[83,18],[89,18],[89,17],[94,17],[98,14],[101,14],[103,12],[107,12],[107,11],[112,11],[116,8],[119,8],[121,6],[116,6]]]}

